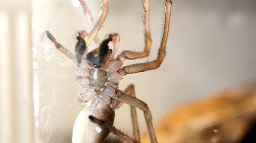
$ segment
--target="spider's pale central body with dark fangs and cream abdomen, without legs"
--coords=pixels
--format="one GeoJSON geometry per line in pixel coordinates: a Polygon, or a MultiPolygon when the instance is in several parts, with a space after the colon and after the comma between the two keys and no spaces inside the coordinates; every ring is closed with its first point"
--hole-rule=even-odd
{"type": "MultiPolygon", "coordinates": [[[[112,37],[112,35],[110,36],[112,37]]],[[[77,45],[82,40],[79,40],[77,45]]],[[[111,58],[112,50],[109,49],[108,43],[104,40],[99,48],[92,50],[89,53],[83,53],[84,57],[77,60],[77,75],[78,83],[86,82],[89,84],[80,84],[81,87],[87,88],[78,96],[78,102],[84,106],[79,113],[73,129],[72,142],[103,142],[109,134],[109,130],[102,128],[100,125],[93,123],[90,116],[101,119],[108,125],[113,126],[115,118],[115,109],[120,105],[120,101],[114,99],[117,93],[117,87],[122,76],[117,72],[121,64],[111,58]],[[104,63],[104,66],[101,66],[104,63]],[[106,67],[116,67],[116,70],[106,67]],[[103,68],[102,68],[103,67],[103,68]],[[83,137],[87,135],[87,137],[83,137]]],[[[78,46],[76,46],[78,47],[78,46]]],[[[84,49],[84,48],[82,48],[84,49]]],[[[78,51],[80,52],[80,51],[78,51]]],[[[87,52],[85,50],[85,52],[87,52]]],[[[77,53],[79,54],[79,53],[77,53]]],[[[121,62],[121,61],[120,61],[121,62]]]]}

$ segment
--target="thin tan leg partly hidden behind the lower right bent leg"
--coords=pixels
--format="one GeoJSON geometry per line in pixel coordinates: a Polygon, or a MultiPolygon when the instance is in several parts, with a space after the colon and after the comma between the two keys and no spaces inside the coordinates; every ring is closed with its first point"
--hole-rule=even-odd
{"type": "MultiPolygon", "coordinates": [[[[128,87],[124,90],[124,93],[135,97],[134,84],[128,85],[128,87]]],[[[138,126],[138,121],[137,121],[137,112],[136,112],[135,106],[133,106],[133,105],[131,105],[131,115],[132,115],[132,123],[133,123],[133,135],[136,140],[140,141],[139,126],[138,126]]]]}

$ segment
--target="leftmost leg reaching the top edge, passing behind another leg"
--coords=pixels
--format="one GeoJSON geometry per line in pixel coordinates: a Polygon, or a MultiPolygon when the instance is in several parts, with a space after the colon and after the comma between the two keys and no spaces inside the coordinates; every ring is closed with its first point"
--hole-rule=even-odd
{"type": "MultiPolygon", "coordinates": [[[[87,7],[86,2],[84,2],[83,0],[79,0],[79,2],[83,8],[84,14],[87,16],[87,20],[88,20],[89,24],[91,25],[91,27],[93,27],[94,26],[93,16],[91,14],[91,11],[87,7]]],[[[99,38],[97,35],[94,37],[94,41],[96,44],[99,43],[99,38]]]]}

